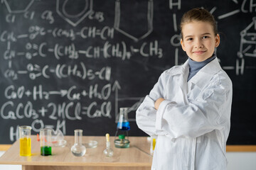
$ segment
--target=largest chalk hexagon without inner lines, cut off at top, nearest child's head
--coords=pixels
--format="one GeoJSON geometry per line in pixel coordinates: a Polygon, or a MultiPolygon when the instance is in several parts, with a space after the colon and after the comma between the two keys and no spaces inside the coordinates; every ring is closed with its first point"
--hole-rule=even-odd
{"type": "Polygon", "coordinates": [[[117,0],[114,29],[136,42],[146,38],[153,30],[153,0],[117,0]]]}

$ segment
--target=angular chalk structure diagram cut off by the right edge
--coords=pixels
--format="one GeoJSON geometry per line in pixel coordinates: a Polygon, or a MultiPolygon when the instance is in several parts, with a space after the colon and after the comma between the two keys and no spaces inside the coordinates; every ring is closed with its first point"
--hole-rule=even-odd
{"type": "Polygon", "coordinates": [[[256,17],[252,18],[252,23],[242,30],[240,35],[240,50],[236,60],[236,67],[240,68],[240,72],[237,69],[237,75],[244,72],[245,57],[256,57],[256,17]]]}

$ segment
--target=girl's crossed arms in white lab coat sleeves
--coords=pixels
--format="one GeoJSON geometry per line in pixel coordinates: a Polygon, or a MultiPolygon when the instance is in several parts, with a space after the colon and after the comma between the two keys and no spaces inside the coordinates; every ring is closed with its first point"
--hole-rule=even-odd
{"type": "Polygon", "coordinates": [[[159,81],[138,108],[137,125],[149,135],[163,134],[174,138],[197,137],[228,127],[232,86],[218,82],[211,82],[198,98],[182,104],[162,98],[159,81]]]}

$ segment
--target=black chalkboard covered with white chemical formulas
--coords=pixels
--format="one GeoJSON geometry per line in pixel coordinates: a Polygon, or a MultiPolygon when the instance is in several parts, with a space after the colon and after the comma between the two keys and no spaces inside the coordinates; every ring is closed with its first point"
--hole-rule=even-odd
{"type": "Polygon", "coordinates": [[[256,2],[1,0],[0,143],[50,127],[114,135],[121,107],[135,111],[161,72],[183,64],[178,24],[194,7],[213,13],[219,62],[233,81],[228,145],[256,145],[256,2]]]}

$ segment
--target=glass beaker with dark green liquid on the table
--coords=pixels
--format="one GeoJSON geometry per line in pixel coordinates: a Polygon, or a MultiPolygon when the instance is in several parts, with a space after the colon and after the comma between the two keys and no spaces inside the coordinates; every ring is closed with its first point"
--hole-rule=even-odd
{"type": "Polygon", "coordinates": [[[49,156],[52,154],[51,133],[52,130],[47,128],[40,130],[40,147],[42,156],[49,156]]]}

